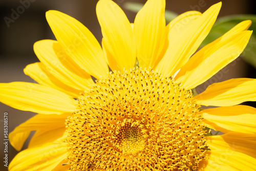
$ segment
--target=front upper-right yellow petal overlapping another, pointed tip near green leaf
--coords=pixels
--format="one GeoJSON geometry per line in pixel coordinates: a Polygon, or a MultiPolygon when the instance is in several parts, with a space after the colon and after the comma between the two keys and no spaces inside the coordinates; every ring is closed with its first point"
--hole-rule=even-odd
{"type": "Polygon", "coordinates": [[[221,37],[192,56],[176,76],[186,90],[193,89],[236,59],[246,47],[252,31],[221,37]],[[179,78],[184,74],[182,80],[179,78]]]}

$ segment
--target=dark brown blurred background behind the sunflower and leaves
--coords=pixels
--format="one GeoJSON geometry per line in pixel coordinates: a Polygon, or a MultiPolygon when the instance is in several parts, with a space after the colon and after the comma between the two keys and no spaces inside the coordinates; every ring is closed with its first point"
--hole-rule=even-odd
{"type": "MultiPolygon", "coordinates": [[[[136,13],[125,10],[127,2],[145,3],[145,0],[114,0],[125,12],[130,22],[134,22],[136,13]]],[[[167,0],[166,10],[181,14],[190,10],[204,12],[211,5],[218,3],[215,0],[167,0]]],[[[254,14],[255,1],[223,0],[219,16],[232,14],[254,14]]],[[[97,1],[93,0],[0,0],[0,82],[25,81],[34,82],[23,73],[23,69],[38,59],[33,52],[33,44],[41,39],[55,39],[45,18],[48,10],[59,10],[73,16],[85,25],[101,42],[101,30],[97,20],[95,8],[97,1]]],[[[256,31],[256,30],[254,30],[256,31]]],[[[218,38],[218,37],[216,37],[218,38]]],[[[255,42],[256,44],[256,42],[255,42]]],[[[254,44],[254,45],[255,45],[254,44]]],[[[252,47],[253,48],[253,47],[252,47]]],[[[256,48],[256,46],[254,47],[256,48]]],[[[255,56],[256,58],[256,56],[255,56]]],[[[255,69],[242,58],[238,58],[227,67],[213,76],[206,83],[197,88],[202,92],[209,84],[230,78],[255,77],[255,69]]],[[[255,86],[256,87],[256,86],[255,86]]],[[[255,105],[254,102],[247,103],[255,105]]],[[[34,114],[19,111],[0,103],[0,170],[7,170],[4,166],[4,113],[8,113],[9,133],[20,123],[23,123],[34,114]]],[[[28,143],[28,141],[27,141],[28,143]]],[[[27,143],[23,149],[27,147],[27,143]]],[[[8,163],[18,152],[8,145],[8,163]]]]}

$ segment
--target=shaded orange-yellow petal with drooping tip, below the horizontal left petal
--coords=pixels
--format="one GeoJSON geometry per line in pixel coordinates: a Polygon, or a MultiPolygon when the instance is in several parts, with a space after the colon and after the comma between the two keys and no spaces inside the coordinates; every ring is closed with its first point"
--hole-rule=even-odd
{"type": "MultiPolygon", "coordinates": [[[[58,129],[59,127],[65,127],[65,122],[68,116],[69,114],[37,114],[26,122],[15,127],[15,129],[9,134],[10,143],[17,151],[20,151],[30,132],[35,130],[51,131],[51,134],[48,135],[48,137],[51,138],[51,135],[53,132],[55,132],[55,129],[58,129]]],[[[59,137],[56,137],[56,139],[57,138],[59,137]]],[[[45,140],[41,139],[41,142],[45,142],[45,140]]]]}

